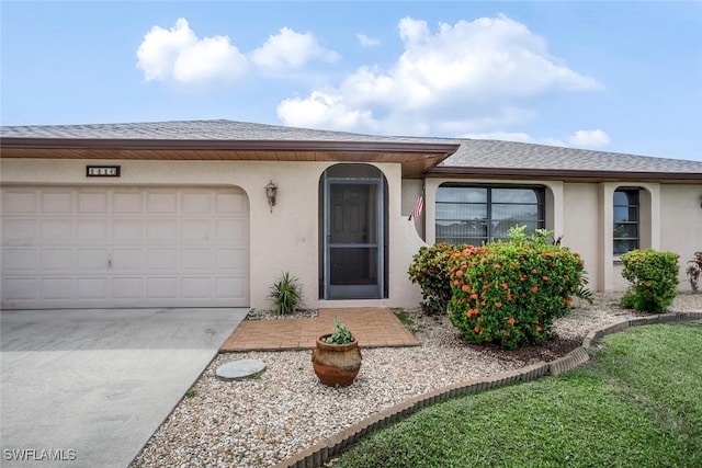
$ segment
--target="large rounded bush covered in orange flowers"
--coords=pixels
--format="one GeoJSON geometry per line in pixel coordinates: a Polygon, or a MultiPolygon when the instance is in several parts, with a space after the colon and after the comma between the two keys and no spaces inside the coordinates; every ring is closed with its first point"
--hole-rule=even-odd
{"type": "Polygon", "coordinates": [[[574,297],[590,299],[580,255],[548,242],[545,230],[524,236],[523,229],[512,229],[509,242],[451,255],[450,318],[471,343],[541,343],[574,297]]]}

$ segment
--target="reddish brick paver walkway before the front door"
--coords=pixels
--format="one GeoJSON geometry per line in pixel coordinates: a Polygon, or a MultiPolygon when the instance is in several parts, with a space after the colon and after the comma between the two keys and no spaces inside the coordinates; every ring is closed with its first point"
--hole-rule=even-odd
{"type": "Polygon", "coordinates": [[[320,309],[316,319],[244,320],[222,351],[312,350],[317,336],[333,332],[333,318],[359,339],[359,346],[418,346],[417,339],[386,308],[320,309]]]}

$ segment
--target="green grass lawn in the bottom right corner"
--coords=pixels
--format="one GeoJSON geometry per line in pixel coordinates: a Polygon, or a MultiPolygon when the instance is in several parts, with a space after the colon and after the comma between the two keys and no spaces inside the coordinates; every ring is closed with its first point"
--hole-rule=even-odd
{"type": "Polygon", "coordinates": [[[423,409],[333,467],[701,467],[702,326],[602,341],[579,369],[423,409]]]}

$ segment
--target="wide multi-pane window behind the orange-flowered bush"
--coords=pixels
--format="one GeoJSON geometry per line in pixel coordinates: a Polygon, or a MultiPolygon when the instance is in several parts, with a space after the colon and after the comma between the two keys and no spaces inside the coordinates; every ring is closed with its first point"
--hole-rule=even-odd
{"type": "Polygon", "coordinates": [[[545,227],[543,186],[474,185],[446,182],[437,189],[437,242],[482,246],[545,227]]]}

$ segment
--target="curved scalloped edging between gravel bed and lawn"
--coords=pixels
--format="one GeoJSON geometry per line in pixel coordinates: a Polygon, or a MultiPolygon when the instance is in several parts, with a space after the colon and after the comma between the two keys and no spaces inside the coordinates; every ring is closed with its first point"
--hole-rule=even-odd
{"type": "Polygon", "coordinates": [[[630,327],[701,319],[702,311],[671,312],[629,319],[619,323],[600,327],[587,334],[585,340],[582,340],[582,345],[558,359],[550,363],[542,361],[521,369],[498,374],[488,378],[454,384],[449,387],[430,391],[429,393],[417,396],[344,429],[339,434],[326,438],[314,446],[297,453],[286,460],[281,461],[275,465],[275,468],[318,468],[335,456],[341,454],[349,446],[359,442],[370,432],[395,423],[421,408],[462,395],[475,393],[520,381],[535,380],[536,378],[543,377],[547,374],[555,376],[571,370],[590,359],[590,354],[593,353],[592,346],[607,334],[621,332],[630,327]]]}

